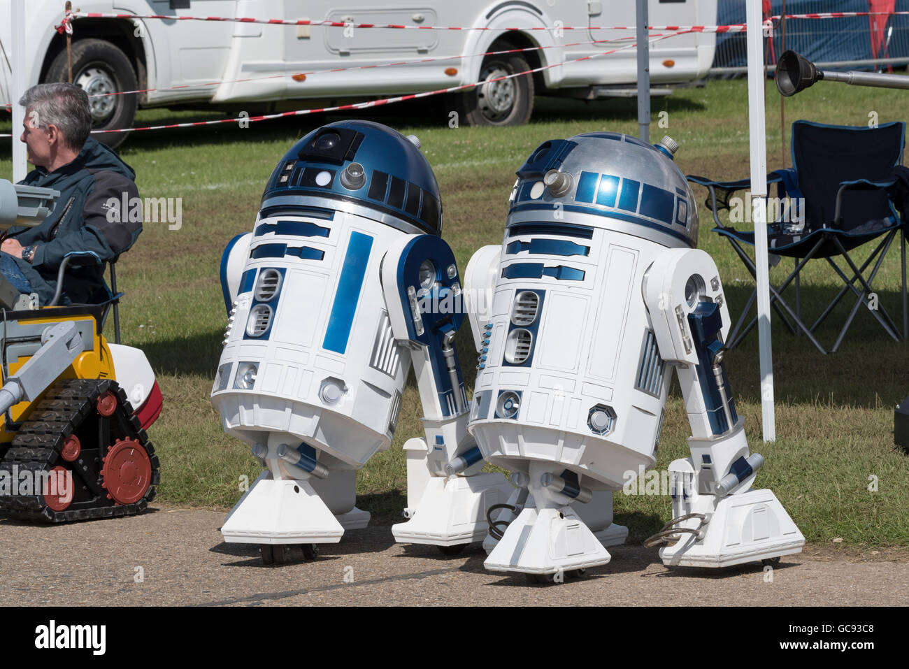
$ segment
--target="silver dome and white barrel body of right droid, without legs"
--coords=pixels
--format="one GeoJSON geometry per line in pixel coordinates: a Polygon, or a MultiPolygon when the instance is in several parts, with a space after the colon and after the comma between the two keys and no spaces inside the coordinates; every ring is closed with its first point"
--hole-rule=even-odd
{"type": "Polygon", "coordinates": [[[657,255],[697,239],[675,148],[589,133],[540,145],[518,171],[469,426],[494,464],[564,468],[568,493],[654,465],[672,367],[643,286],[657,255]]]}

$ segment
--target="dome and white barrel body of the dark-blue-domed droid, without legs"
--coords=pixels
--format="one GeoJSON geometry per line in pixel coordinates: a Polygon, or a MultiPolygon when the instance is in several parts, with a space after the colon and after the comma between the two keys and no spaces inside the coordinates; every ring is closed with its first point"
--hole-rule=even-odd
{"type": "Polygon", "coordinates": [[[380,285],[385,251],[439,235],[441,214],[412,141],[338,122],[282,158],[253,233],[225,251],[230,319],[212,404],[228,434],[262,444],[275,479],[310,474],[333,514],[353,507],[354,470],[391,444],[410,370],[380,285]]]}

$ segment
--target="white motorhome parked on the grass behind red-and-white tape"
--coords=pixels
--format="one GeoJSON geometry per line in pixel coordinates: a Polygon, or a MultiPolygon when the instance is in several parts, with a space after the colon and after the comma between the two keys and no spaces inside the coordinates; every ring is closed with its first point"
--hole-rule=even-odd
{"type": "MultiPolygon", "coordinates": [[[[11,3],[0,0],[0,16],[11,3]]],[[[27,82],[66,81],[65,37],[55,31],[62,0],[26,3],[27,82]]],[[[130,127],[137,107],[211,105],[222,109],[283,110],[313,106],[300,100],[351,101],[465,85],[546,67],[533,76],[490,82],[454,103],[462,122],[514,125],[530,118],[535,95],[594,99],[631,95],[634,48],[584,56],[634,42],[634,0],[84,0],[78,11],[128,15],[248,16],[329,20],[347,27],[262,25],[141,18],[79,18],[73,23],[73,80],[90,94],[95,127],[130,127]],[[482,30],[359,28],[359,24],[463,26],[482,30]],[[550,30],[533,28],[550,27],[550,30]],[[560,30],[556,26],[580,26],[560,30]],[[516,30],[514,30],[516,28],[516,30]],[[623,38],[625,41],[612,41],[623,38]],[[605,42],[609,40],[609,42],[605,42]],[[594,43],[594,41],[597,41],[594,43]],[[490,51],[543,47],[506,55],[490,51]],[[443,56],[454,56],[438,60],[443,56]],[[398,61],[425,63],[345,69],[398,61]],[[299,73],[315,73],[292,76],[299,73]],[[243,79],[244,81],[237,81],[243,79]],[[220,82],[212,85],[213,82],[220,82]],[[131,95],[98,95],[146,90],[131,95]]],[[[650,0],[651,25],[711,25],[716,0],[650,0]]],[[[10,24],[0,22],[0,103],[11,100],[10,24]]],[[[651,47],[655,85],[690,82],[706,74],[715,35],[678,35],[651,47]]],[[[114,144],[123,134],[98,135],[114,144]]]]}

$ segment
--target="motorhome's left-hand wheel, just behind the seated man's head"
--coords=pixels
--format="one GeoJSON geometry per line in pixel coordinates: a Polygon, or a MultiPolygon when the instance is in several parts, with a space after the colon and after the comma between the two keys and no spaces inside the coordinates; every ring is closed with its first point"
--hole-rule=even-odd
{"type": "MultiPolygon", "coordinates": [[[[45,81],[68,81],[66,50],[54,58],[45,81]]],[[[136,95],[104,95],[135,91],[139,87],[135,69],[117,46],[103,39],[81,39],[73,43],[73,83],[90,95],[93,130],[128,128],[135,119],[136,95]]],[[[102,144],[121,145],[129,133],[93,135],[102,144]]]]}

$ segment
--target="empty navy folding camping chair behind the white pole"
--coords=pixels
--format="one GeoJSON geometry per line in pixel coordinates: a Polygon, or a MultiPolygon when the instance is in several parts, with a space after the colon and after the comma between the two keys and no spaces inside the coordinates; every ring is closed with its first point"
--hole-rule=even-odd
{"type": "MultiPolygon", "coordinates": [[[[777,187],[777,202],[788,199],[788,207],[780,212],[774,222],[768,221],[767,241],[771,254],[794,259],[794,269],[785,281],[770,287],[770,303],[790,332],[802,332],[821,353],[827,353],[814,336],[834,307],[851,290],[856,295],[855,304],[836,338],[835,352],[852,325],[859,307],[865,305],[881,324],[887,335],[901,341],[909,335],[906,311],[905,265],[905,212],[904,194],[909,185],[909,170],[902,167],[905,124],[888,123],[878,127],[852,127],[822,125],[810,121],[796,121],[792,127],[793,167],[780,169],[767,175],[767,193],[770,186],[777,187]],[[900,207],[903,218],[897,215],[893,203],[900,207]],[[890,249],[894,237],[901,235],[903,268],[903,336],[894,325],[883,305],[876,299],[872,284],[890,249]],[[858,246],[880,239],[874,252],[861,266],[856,266],[849,252],[858,246]],[[852,272],[848,277],[834,258],[842,261],[852,272]],[[811,326],[801,318],[801,292],[799,275],[804,266],[814,259],[824,259],[844,283],[833,302],[811,326]],[[870,273],[865,274],[869,265],[870,273]],[[795,309],[787,305],[781,295],[795,283],[795,309]],[[874,305],[872,302],[874,301],[874,305]],[[790,323],[786,316],[794,323],[790,323]],[[796,329],[797,328],[797,329],[796,329]]],[[[736,230],[720,222],[718,212],[730,210],[731,196],[751,187],[750,179],[733,182],[710,181],[703,176],[689,175],[694,184],[704,185],[710,195],[706,205],[711,208],[716,227],[714,233],[724,235],[756,279],[754,261],[742,245],[754,246],[754,232],[736,230]]],[[[729,335],[728,348],[738,345],[757,322],[754,319],[742,329],[754,305],[756,288],[748,299],[742,315],[729,335]],[[741,333],[740,333],[741,331],[741,333]]]]}

